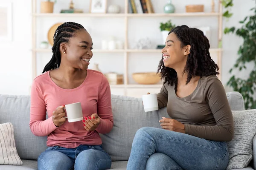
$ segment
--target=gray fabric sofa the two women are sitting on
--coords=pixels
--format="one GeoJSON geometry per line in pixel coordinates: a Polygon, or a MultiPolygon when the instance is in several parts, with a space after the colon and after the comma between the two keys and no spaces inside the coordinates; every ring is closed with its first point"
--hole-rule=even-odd
{"type": "MultiPolygon", "coordinates": [[[[111,97],[114,127],[110,133],[101,135],[102,146],[111,155],[111,169],[125,170],[136,131],[145,126],[160,128],[158,120],[168,115],[166,108],[144,112],[141,98],[116,95],[111,97]]],[[[244,110],[241,94],[229,92],[227,97],[232,110],[244,110]]],[[[29,129],[29,109],[30,96],[0,95],[0,124],[13,124],[17,152],[23,161],[21,166],[0,165],[1,170],[36,170],[37,158],[47,148],[47,137],[34,136],[29,129]]],[[[253,146],[256,146],[255,137],[253,146]]],[[[244,170],[253,170],[251,166],[244,170]]]]}

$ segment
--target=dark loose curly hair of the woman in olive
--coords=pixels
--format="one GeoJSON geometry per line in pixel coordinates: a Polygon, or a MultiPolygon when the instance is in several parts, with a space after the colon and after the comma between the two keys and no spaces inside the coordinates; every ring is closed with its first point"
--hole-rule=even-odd
{"type": "MultiPolygon", "coordinates": [[[[175,33],[177,39],[180,40],[181,48],[186,45],[191,46],[190,54],[187,56],[186,66],[183,71],[183,74],[185,72],[188,74],[186,84],[195,76],[207,77],[219,74],[217,72],[219,69],[218,65],[215,64],[210,57],[209,40],[204,36],[203,31],[183,25],[172,28],[169,34],[172,32],[175,33]]],[[[164,66],[163,55],[159,62],[157,73],[161,74],[162,79],[164,79],[164,84],[168,82],[168,85],[175,85],[176,90],[177,72],[173,68],[164,66]]]]}

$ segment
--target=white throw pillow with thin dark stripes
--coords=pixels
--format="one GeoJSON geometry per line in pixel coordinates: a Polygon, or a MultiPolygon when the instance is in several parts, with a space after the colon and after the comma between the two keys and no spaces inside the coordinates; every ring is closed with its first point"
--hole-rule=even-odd
{"type": "Polygon", "coordinates": [[[0,164],[23,164],[15,146],[12,123],[0,124],[0,164]]]}

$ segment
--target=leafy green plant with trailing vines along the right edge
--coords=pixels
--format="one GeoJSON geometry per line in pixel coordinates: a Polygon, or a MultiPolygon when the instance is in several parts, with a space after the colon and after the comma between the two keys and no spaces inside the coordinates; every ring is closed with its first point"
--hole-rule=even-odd
{"type": "MultiPolygon", "coordinates": [[[[232,17],[232,13],[228,9],[233,6],[233,0],[222,0],[221,3],[227,9],[223,16],[227,18],[232,17]]],[[[253,11],[253,14],[239,21],[241,23],[240,28],[231,27],[224,29],[224,34],[233,33],[243,39],[243,43],[238,50],[239,57],[233,68],[230,69],[230,74],[234,69],[239,69],[239,71],[246,70],[247,73],[250,72],[249,77],[247,79],[239,78],[233,74],[227,85],[232,87],[234,91],[242,94],[245,109],[256,108],[256,7],[250,10],[253,11]],[[248,63],[253,63],[254,65],[251,71],[246,67],[248,63]]]]}

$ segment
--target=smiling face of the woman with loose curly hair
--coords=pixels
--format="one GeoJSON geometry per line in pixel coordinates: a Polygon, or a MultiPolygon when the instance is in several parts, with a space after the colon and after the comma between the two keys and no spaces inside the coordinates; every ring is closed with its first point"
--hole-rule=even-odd
{"type": "Polygon", "coordinates": [[[172,32],[166,38],[166,46],[162,49],[163,62],[165,67],[178,69],[186,65],[190,45],[182,45],[176,34],[172,32]]]}

